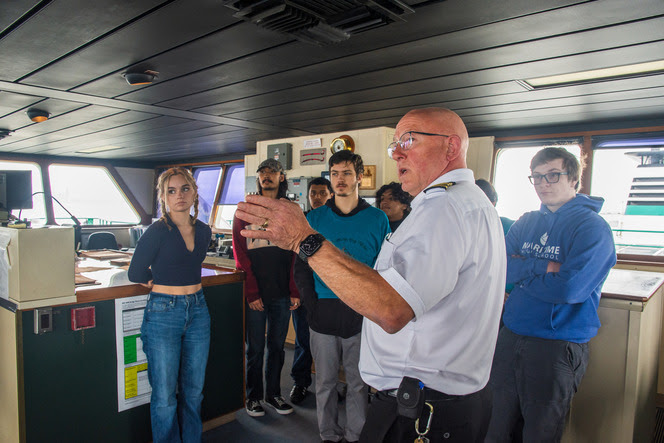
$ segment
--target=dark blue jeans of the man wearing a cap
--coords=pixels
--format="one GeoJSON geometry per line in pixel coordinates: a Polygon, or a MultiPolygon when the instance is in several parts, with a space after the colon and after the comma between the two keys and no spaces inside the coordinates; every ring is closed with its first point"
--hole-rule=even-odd
{"type": "Polygon", "coordinates": [[[263,301],[264,311],[246,307],[247,327],[247,400],[263,399],[263,356],[267,323],[267,363],[265,398],[281,395],[281,369],[284,366],[284,343],[290,319],[290,298],[263,301]]]}

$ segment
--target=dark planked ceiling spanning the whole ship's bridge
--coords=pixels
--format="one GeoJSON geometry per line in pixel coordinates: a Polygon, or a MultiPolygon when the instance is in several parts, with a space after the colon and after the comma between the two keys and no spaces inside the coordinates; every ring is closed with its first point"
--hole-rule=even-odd
{"type": "Polygon", "coordinates": [[[2,1],[0,154],[239,158],[427,106],[471,135],[662,125],[661,71],[520,82],[661,59],[662,0],[2,1]]]}

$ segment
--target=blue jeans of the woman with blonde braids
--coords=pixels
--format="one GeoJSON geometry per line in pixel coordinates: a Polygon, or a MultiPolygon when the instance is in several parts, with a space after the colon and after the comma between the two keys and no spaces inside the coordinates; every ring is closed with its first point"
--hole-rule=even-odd
{"type": "Polygon", "coordinates": [[[152,439],[201,441],[201,401],[210,350],[210,314],[203,291],[152,292],[141,327],[152,386],[152,439]],[[176,398],[177,389],[177,398],[176,398]]]}

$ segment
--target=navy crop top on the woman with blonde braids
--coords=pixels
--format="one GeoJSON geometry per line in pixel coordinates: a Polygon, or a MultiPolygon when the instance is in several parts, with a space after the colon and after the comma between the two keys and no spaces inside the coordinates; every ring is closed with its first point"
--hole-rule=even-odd
{"type": "Polygon", "coordinates": [[[134,256],[129,265],[128,277],[135,283],[188,286],[201,282],[201,264],[205,259],[212,231],[200,220],[196,220],[194,250],[187,245],[170,218],[168,229],[163,220],[150,225],[138,240],[134,256]],[[150,270],[150,268],[152,268],[150,270]]]}

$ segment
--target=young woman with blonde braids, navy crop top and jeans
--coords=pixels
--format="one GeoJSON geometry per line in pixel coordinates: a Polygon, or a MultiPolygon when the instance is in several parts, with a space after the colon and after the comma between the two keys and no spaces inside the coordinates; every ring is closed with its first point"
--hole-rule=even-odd
{"type": "Polygon", "coordinates": [[[129,280],[151,288],[141,340],[152,386],[152,439],[200,442],[210,349],[201,264],[212,233],[197,220],[198,187],[187,169],[164,171],[157,192],[163,216],[139,239],[128,272],[129,280]]]}

